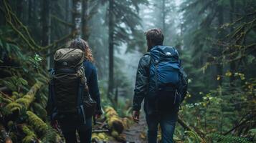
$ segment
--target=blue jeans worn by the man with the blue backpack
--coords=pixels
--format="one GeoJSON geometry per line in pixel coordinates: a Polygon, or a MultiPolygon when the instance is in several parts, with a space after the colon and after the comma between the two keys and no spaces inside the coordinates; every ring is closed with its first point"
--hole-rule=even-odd
{"type": "Polygon", "coordinates": [[[148,143],[156,143],[158,124],[160,124],[161,127],[162,143],[173,143],[177,117],[177,113],[146,115],[146,122],[148,124],[148,143]]]}

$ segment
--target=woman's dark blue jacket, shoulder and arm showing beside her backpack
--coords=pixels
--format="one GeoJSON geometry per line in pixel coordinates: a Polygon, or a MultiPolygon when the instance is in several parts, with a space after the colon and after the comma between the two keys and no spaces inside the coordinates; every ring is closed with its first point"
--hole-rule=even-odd
{"type": "Polygon", "coordinates": [[[102,114],[100,105],[100,91],[98,87],[97,69],[90,61],[84,61],[85,77],[89,87],[90,96],[97,102],[96,114],[102,114]]]}

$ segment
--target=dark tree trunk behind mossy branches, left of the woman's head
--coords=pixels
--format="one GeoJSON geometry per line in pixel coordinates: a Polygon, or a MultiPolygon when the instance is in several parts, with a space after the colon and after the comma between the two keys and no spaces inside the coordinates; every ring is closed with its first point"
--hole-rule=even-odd
{"type": "MultiPolygon", "coordinates": [[[[51,0],[44,0],[42,3],[42,46],[47,46],[50,43],[51,35],[51,19],[50,19],[50,2],[51,0]]],[[[47,51],[50,52],[50,49],[47,51]]],[[[50,66],[50,56],[47,57],[47,68],[50,66]]]]}

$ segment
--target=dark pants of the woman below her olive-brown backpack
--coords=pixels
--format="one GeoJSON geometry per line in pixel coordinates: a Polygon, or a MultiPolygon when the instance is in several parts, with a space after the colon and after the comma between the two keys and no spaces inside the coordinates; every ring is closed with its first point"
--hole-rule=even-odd
{"type": "Polygon", "coordinates": [[[80,143],[91,142],[92,118],[86,119],[86,124],[81,124],[72,118],[65,119],[65,121],[60,121],[60,127],[66,143],[77,143],[76,131],[79,134],[80,143]]]}

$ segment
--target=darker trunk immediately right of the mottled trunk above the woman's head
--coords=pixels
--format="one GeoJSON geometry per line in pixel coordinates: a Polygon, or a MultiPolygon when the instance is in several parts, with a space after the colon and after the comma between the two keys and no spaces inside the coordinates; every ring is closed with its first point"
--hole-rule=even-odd
{"type": "Polygon", "coordinates": [[[82,0],[82,39],[89,38],[89,27],[88,27],[88,16],[89,16],[89,10],[88,10],[88,0],[82,0]]]}

